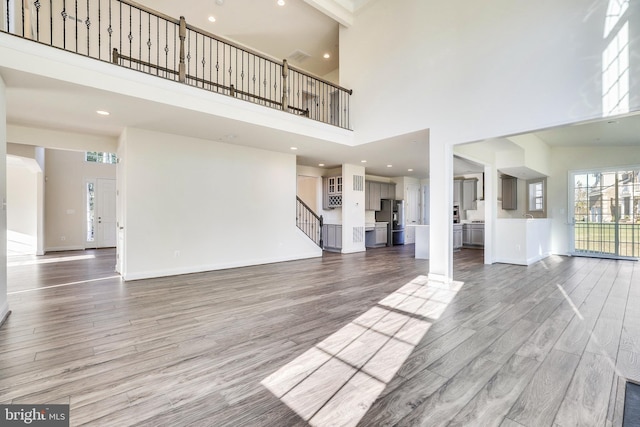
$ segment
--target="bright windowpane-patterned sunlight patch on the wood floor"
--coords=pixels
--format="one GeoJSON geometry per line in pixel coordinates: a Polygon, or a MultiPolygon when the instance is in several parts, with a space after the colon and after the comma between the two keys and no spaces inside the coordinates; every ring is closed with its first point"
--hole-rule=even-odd
{"type": "Polygon", "coordinates": [[[312,426],[355,426],[461,287],[418,276],[262,385],[312,426]]]}

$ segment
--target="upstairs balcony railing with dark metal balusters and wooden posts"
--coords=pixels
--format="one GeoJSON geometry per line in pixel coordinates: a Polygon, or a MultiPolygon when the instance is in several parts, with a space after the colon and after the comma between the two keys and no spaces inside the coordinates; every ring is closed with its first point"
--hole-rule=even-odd
{"type": "Polygon", "coordinates": [[[351,90],[124,0],[0,0],[0,30],[350,129],[351,90]]]}

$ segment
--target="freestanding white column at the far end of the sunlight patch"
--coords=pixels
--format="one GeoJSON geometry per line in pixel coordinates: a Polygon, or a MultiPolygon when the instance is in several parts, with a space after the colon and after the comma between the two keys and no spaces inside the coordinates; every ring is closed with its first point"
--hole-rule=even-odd
{"type": "Polygon", "coordinates": [[[429,279],[453,280],[453,146],[429,142],[429,279]]]}

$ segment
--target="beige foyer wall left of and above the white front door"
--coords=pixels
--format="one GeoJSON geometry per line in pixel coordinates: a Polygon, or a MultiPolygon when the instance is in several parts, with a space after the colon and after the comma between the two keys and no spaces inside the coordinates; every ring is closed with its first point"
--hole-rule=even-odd
{"type": "Polygon", "coordinates": [[[86,247],[85,179],[116,177],[116,166],[84,161],[83,151],[46,150],[45,250],[86,247]]]}

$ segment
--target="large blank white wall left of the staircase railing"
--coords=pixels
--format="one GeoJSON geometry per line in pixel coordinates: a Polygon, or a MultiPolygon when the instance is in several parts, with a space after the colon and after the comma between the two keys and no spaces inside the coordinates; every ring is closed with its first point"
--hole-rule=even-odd
{"type": "Polygon", "coordinates": [[[322,255],[296,227],[294,155],[133,128],[118,153],[125,280],[322,255]]]}

